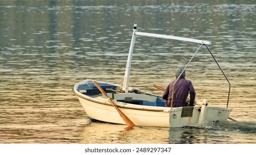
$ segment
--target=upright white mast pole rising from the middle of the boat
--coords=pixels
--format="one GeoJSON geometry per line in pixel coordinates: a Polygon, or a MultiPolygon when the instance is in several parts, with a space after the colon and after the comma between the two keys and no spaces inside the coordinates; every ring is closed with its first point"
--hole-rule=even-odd
{"type": "Polygon", "coordinates": [[[124,82],[122,85],[122,90],[124,90],[126,93],[128,92],[128,87],[129,87],[132,52],[134,51],[134,44],[135,44],[135,40],[136,40],[135,32],[137,32],[137,23],[134,23],[134,32],[132,33],[131,45],[130,45],[129,55],[127,58],[127,64],[126,64],[126,69],[125,69],[125,77],[124,77],[124,82]]]}

